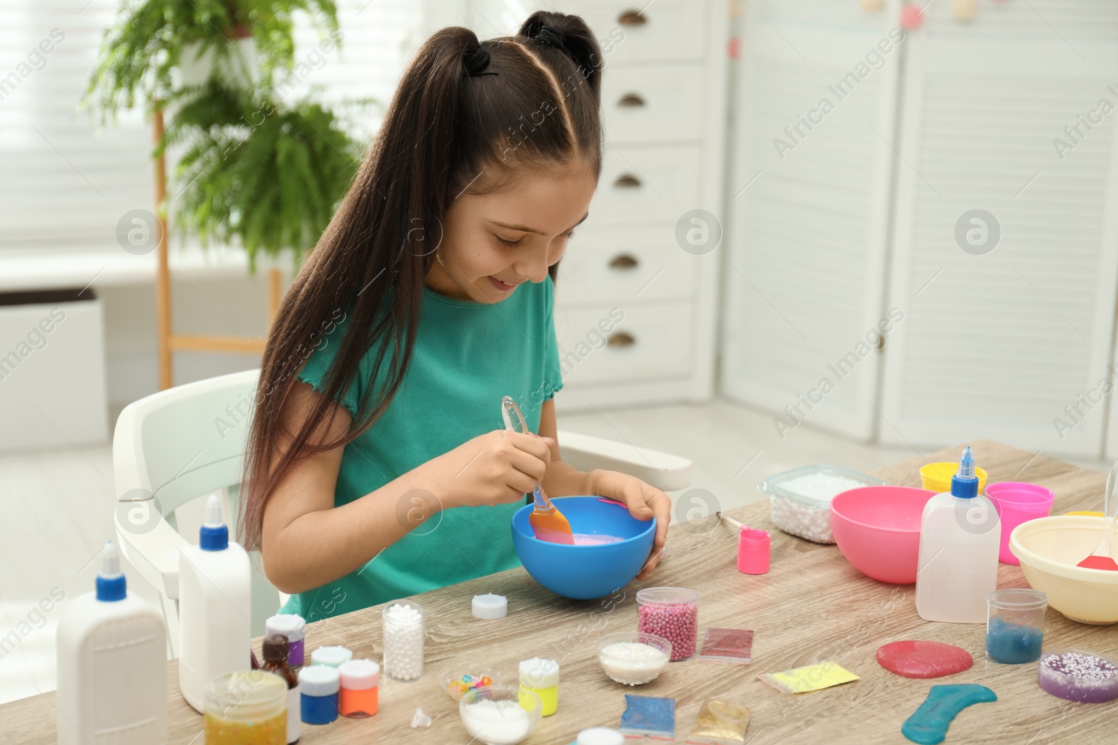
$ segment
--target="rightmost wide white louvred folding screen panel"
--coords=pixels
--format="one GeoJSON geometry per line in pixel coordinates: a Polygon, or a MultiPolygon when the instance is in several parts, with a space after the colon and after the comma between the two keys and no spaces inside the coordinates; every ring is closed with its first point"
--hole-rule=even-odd
{"type": "Polygon", "coordinates": [[[1098,455],[1099,383],[1118,383],[1118,3],[984,3],[969,22],[935,3],[907,54],[881,440],[1098,455]]]}

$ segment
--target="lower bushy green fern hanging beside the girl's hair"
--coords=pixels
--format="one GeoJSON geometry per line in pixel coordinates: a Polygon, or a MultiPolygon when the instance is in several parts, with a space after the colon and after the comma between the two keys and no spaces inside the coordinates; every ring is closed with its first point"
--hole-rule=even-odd
{"type": "Polygon", "coordinates": [[[358,165],[359,147],[320,104],[277,102],[214,78],[181,97],[157,154],[182,144],[176,221],[203,245],[240,246],[297,262],[325,230],[358,165]]]}

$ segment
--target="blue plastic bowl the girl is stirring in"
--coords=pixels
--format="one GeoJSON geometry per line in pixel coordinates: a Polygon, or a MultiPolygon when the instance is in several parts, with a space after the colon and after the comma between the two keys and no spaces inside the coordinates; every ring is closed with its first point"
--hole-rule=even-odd
{"type": "Polygon", "coordinates": [[[537,541],[525,505],[512,516],[512,545],[532,579],[572,600],[608,595],[625,586],[648,561],[656,537],[656,518],[638,520],[620,505],[600,497],[556,497],[572,533],[612,535],[624,541],[589,546],[537,541]]]}

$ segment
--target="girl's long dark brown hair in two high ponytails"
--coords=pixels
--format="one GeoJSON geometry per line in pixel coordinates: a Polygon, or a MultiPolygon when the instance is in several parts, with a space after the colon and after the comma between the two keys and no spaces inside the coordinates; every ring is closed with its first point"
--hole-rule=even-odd
{"type": "Polygon", "coordinates": [[[581,18],[543,11],[514,37],[479,42],[470,29],[445,28],[416,52],[268,334],[240,500],[239,538],[247,548],[260,547],[264,506],[293,465],[351,442],[399,389],[451,202],[463,191],[499,189],[525,169],[580,160],[600,173],[601,68],[601,51],[581,18]],[[479,47],[490,56],[487,66],[479,47]],[[342,319],[344,335],[329,336],[342,319]],[[322,405],[296,431],[284,432],[281,413],[297,373],[323,341],[339,346],[322,405]],[[371,364],[359,371],[370,350],[371,364]],[[383,382],[366,388],[349,431],[315,443],[325,402],[339,401],[359,374],[383,382]],[[291,438],[286,447],[282,434],[291,438]]]}

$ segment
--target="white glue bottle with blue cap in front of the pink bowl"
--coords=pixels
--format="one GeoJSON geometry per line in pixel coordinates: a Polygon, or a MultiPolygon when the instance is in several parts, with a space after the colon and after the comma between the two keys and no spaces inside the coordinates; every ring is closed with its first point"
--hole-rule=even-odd
{"type": "Polygon", "coordinates": [[[997,588],[1002,524],[994,504],[978,494],[968,447],[951,490],[923,507],[916,611],[925,621],[985,623],[986,598],[997,588]]]}

